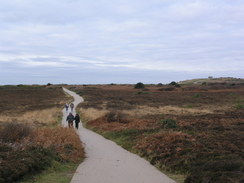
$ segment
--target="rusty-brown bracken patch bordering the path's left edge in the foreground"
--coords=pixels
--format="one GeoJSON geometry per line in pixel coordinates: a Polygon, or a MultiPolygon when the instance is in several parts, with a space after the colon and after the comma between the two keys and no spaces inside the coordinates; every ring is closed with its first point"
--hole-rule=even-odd
{"type": "Polygon", "coordinates": [[[84,158],[84,148],[80,138],[74,129],[69,128],[32,128],[23,123],[5,123],[0,129],[1,143],[15,149],[29,147],[50,149],[65,161],[76,162],[84,158]]]}

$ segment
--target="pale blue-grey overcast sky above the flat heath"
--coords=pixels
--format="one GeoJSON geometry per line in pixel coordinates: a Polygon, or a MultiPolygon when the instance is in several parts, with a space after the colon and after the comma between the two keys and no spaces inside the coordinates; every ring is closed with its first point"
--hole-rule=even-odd
{"type": "Polygon", "coordinates": [[[0,0],[0,84],[244,78],[244,0],[0,0]]]}

